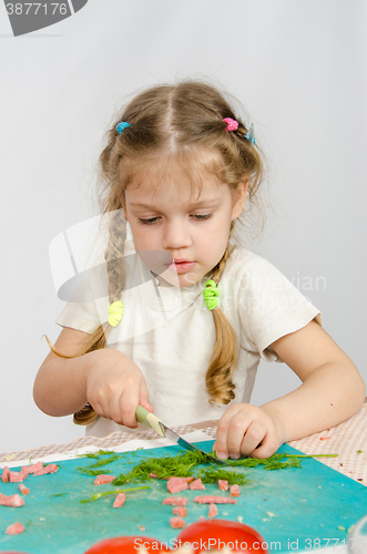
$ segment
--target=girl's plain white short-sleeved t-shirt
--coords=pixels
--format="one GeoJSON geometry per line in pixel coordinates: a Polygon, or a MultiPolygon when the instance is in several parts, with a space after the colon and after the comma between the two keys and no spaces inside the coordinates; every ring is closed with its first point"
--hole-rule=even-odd
{"type": "MultiPolygon", "coordinates": [[[[161,287],[132,243],[126,243],[125,256],[124,315],[108,336],[106,347],[118,348],[137,365],[154,413],[166,425],[220,419],[231,404],[212,406],[206,392],[205,373],[215,343],[213,316],[202,294],[207,278],[185,288],[161,287]]],[[[98,284],[95,275],[89,279],[83,301],[69,302],[57,322],[92,332],[106,321],[103,280],[106,286],[102,268],[98,284]]],[[[271,263],[242,247],[228,258],[217,288],[218,306],[238,339],[232,403],[249,402],[261,358],[282,361],[269,345],[313,319],[322,325],[320,312],[271,263]]],[[[86,427],[86,434],[95,437],[115,431],[134,432],[101,417],[86,427]]]]}

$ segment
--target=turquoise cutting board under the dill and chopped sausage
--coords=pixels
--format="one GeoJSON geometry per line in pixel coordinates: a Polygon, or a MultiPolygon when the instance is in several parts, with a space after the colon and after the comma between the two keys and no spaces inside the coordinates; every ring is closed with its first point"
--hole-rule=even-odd
{"type": "MultiPolygon", "coordinates": [[[[213,442],[196,444],[211,452],[213,442]]],[[[129,452],[104,469],[116,476],[142,459],[176,455],[181,450],[165,447],[129,452]]],[[[299,453],[288,445],[283,445],[281,451],[299,453]]],[[[120,509],[112,507],[114,495],[82,504],[80,501],[94,492],[115,489],[112,484],[96,486],[95,478],[77,471],[90,462],[85,458],[63,461],[57,473],[30,475],[26,480],[30,489],[30,494],[24,496],[26,505],[0,506],[0,553],[12,550],[29,554],[83,554],[101,540],[122,535],[150,536],[172,544],[179,531],[172,530],[169,523],[172,506],[162,504],[170,495],[166,481],[144,483],[150,489],[128,494],[120,509]],[[7,526],[16,521],[26,526],[23,534],[6,535],[7,526]],[[139,525],[145,531],[141,532],[139,525]]],[[[314,546],[320,552],[318,546],[325,547],[328,540],[329,546],[343,544],[348,527],[367,513],[367,489],[315,459],[303,460],[300,469],[266,471],[257,466],[241,471],[251,481],[239,488],[236,505],[217,506],[218,517],[237,521],[239,516],[265,541],[279,543],[276,552],[309,551],[314,546]]],[[[19,492],[18,484],[0,483],[0,492],[14,494],[19,492]]],[[[206,492],[217,494],[218,488],[206,485],[206,492]]],[[[186,524],[201,515],[207,516],[208,506],[193,502],[194,496],[202,493],[191,490],[180,493],[187,497],[186,524]]]]}

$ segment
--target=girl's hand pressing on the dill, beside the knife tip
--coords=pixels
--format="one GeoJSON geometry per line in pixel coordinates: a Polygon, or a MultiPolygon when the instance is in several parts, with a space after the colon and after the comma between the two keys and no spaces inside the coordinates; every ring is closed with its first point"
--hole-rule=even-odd
{"type": "Polygon", "coordinates": [[[282,421],[271,410],[252,404],[233,404],[222,416],[213,450],[218,459],[241,455],[268,458],[283,444],[282,421]]]}

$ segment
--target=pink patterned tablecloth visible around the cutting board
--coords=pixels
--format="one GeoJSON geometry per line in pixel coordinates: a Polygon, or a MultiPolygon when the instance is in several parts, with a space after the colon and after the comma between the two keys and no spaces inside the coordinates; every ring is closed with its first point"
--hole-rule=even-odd
{"type": "MultiPolygon", "coordinates": [[[[366,399],[367,400],[367,399],[366,399]]],[[[319,458],[319,461],[350,479],[367,484],[367,403],[348,421],[327,431],[312,434],[288,444],[306,454],[338,454],[337,458],[319,458]]],[[[217,421],[203,421],[191,425],[173,428],[179,434],[201,430],[207,438],[215,439],[217,421]]],[[[32,450],[6,452],[0,454],[0,462],[43,458],[53,454],[73,453],[84,447],[96,447],[109,450],[131,441],[132,439],[153,440],[157,435],[154,431],[136,433],[112,433],[104,438],[83,437],[68,444],[49,444],[32,450]]]]}

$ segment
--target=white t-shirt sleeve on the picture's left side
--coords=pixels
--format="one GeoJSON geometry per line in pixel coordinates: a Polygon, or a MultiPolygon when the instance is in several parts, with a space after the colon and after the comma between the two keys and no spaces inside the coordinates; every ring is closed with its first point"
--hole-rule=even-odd
{"type": "Polygon", "coordinates": [[[101,319],[88,279],[84,279],[78,287],[55,322],[61,327],[71,327],[72,329],[89,334],[95,331],[101,325],[101,319]]]}

